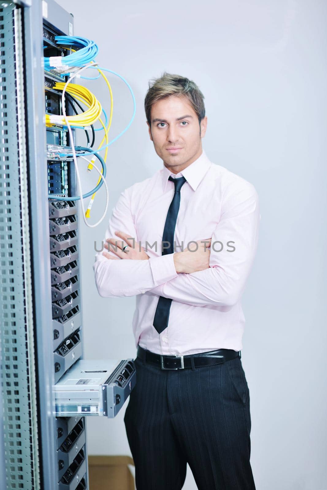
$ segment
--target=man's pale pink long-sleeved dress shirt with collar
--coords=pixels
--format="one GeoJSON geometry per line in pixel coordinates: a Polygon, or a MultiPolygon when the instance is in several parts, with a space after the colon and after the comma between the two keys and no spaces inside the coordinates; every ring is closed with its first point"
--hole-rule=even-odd
{"type": "Polygon", "coordinates": [[[257,248],[260,218],[254,186],[210,162],[204,150],[176,175],[163,164],[152,177],[121,193],[105,239],[119,241],[115,231],[123,231],[135,238],[136,246],[141,243],[150,258],[110,260],[100,251],[93,269],[100,296],[136,295],[132,319],[136,346],[167,355],[242,349],[245,317],[241,296],[257,248]],[[183,175],[187,181],[180,191],[175,252],[192,241],[211,238],[209,269],[177,274],[174,254],[161,254],[175,189],[170,175],[183,175]],[[152,325],[159,296],[173,299],[168,327],[161,334],[152,325]]]}

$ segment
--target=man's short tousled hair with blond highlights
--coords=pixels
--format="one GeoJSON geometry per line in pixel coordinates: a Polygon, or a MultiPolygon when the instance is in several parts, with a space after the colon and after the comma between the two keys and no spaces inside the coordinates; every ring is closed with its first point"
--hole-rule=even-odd
{"type": "Polygon", "coordinates": [[[144,109],[150,127],[152,104],[171,95],[188,98],[198,116],[199,124],[201,123],[205,116],[205,108],[204,96],[198,85],[184,76],[164,72],[159,78],[150,80],[149,90],[145,96],[144,109]]]}

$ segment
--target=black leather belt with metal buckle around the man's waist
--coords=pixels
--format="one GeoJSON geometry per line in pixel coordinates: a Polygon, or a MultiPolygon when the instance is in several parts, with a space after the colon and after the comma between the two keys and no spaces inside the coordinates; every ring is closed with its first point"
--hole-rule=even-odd
{"type": "Polygon", "coordinates": [[[200,352],[199,354],[188,354],[186,356],[165,356],[155,354],[150,350],[146,350],[140,345],[137,347],[137,357],[142,361],[153,364],[161,369],[184,369],[192,368],[192,357],[195,368],[203,366],[213,366],[221,364],[235,357],[241,357],[241,351],[234,349],[218,349],[208,352],[200,352]]]}

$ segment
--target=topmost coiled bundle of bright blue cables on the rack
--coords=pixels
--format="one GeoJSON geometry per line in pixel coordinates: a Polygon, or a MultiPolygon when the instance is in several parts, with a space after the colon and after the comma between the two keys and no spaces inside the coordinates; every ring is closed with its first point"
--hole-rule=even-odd
{"type": "Polygon", "coordinates": [[[84,37],[55,36],[56,44],[73,48],[67,56],[50,56],[44,58],[44,69],[48,72],[52,69],[60,72],[69,71],[72,67],[82,67],[94,61],[99,52],[98,45],[84,37]]]}

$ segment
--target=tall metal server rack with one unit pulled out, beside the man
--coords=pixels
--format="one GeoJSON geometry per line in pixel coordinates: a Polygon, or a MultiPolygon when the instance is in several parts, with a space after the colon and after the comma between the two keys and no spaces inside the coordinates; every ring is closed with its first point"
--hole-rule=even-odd
{"type": "MultiPolygon", "coordinates": [[[[44,46],[55,56],[54,36],[73,28],[53,0],[0,5],[1,489],[89,488],[85,416],[56,417],[53,388],[78,362],[85,369],[77,204],[55,200],[76,195],[75,171],[47,152],[70,142],[62,127],[45,129],[61,102],[42,64],[44,46]]],[[[110,417],[135,385],[132,360],[112,366],[99,387],[111,409],[98,415],[110,417]]]]}

